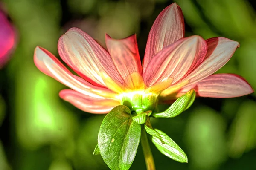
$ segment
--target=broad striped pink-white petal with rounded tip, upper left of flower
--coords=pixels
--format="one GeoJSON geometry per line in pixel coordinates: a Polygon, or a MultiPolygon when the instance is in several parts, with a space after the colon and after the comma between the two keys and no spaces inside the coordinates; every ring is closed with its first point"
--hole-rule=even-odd
{"type": "Polygon", "coordinates": [[[91,84],[105,87],[100,72],[123,84],[108,52],[78,28],[71,28],[60,37],[58,52],[65,63],[91,84]]]}

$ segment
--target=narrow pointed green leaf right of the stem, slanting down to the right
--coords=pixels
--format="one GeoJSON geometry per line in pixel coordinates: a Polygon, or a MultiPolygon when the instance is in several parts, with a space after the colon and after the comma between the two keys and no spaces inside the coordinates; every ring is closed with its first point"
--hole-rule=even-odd
{"type": "Polygon", "coordinates": [[[150,139],[157,147],[157,149],[163,153],[165,156],[178,161],[178,162],[188,162],[188,158],[184,151],[173,141],[169,136],[163,133],[161,130],[155,129],[157,133],[163,138],[164,144],[159,138],[152,136],[150,139]]]}

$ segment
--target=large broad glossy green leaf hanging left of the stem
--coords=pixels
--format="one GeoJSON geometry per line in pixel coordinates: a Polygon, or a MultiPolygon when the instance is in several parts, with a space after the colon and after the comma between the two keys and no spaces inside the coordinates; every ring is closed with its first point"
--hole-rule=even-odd
{"type": "Polygon", "coordinates": [[[98,135],[100,154],[111,170],[128,170],[140,142],[140,124],[126,106],[114,107],[102,121],[98,135]]]}

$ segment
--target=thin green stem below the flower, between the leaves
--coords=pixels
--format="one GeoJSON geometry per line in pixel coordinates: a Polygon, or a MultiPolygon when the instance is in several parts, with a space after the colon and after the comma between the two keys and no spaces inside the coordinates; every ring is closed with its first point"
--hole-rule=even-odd
{"type": "Polygon", "coordinates": [[[148,138],[147,138],[147,133],[145,131],[145,125],[141,125],[141,137],[140,137],[140,142],[143,150],[143,154],[145,157],[145,162],[147,166],[147,170],[155,170],[155,165],[154,165],[154,158],[151,153],[151,149],[148,144],[148,138]]]}

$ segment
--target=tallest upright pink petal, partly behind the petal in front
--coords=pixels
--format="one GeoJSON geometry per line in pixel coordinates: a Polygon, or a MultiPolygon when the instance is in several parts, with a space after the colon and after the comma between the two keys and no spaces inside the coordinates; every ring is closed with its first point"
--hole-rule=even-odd
{"type": "Polygon", "coordinates": [[[149,32],[143,61],[143,73],[158,52],[184,37],[184,31],[184,18],[180,6],[172,3],[158,15],[149,32]]]}

